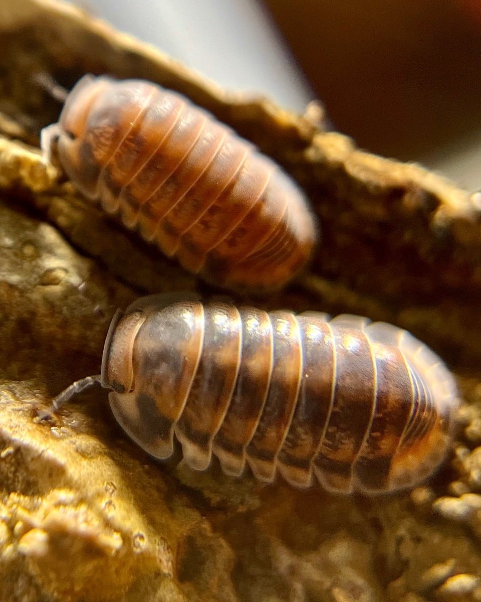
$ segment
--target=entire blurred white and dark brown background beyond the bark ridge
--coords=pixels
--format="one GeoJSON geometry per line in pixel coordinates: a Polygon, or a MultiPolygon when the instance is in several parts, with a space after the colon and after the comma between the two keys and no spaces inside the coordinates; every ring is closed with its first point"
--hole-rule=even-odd
{"type": "MultiPolygon", "coordinates": [[[[79,2],[75,2],[79,4],[79,2]]],[[[224,87],[481,188],[481,0],[84,0],[224,87]]]]}

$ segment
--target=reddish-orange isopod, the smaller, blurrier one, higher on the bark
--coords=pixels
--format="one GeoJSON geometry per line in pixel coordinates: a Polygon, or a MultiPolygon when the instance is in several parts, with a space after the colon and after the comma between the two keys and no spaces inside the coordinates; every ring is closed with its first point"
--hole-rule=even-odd
{"type": "Polygon", "coordinates": [[[218,286],[274,290],[311,256],[317,226],[292,179],[159,85],[84,76],[41,146],[85,196],[218,286]]]}

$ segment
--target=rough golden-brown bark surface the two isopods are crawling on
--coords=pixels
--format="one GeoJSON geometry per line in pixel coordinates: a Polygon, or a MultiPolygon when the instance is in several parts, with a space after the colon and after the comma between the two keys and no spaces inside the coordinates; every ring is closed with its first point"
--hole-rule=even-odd
{"type": "Polygon", "coordinates": [[[75,8],[0,5],[0,600],[481,600],[479,197],[264,101],[228,97],[75,8]],[[311,272],[265,308],[349,311],[408,327],[455,367],[459,442],[413,492],[367,499],[264,486],[150,461],[93,390],[39,408],[99,370],[117,306],[212,293],[102,216],[35,151],[58,107],[38,70],[148,77],[274,155],[323,225],[311,272]],[[22,143],[17,139],[22,140],[22,143]],[[31,144],[31,146],[26,146],[31,144]]]}

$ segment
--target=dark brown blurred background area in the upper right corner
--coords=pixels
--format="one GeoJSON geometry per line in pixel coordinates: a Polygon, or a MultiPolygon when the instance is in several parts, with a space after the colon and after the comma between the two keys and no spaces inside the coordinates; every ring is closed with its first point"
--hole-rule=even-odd
{"type": "Polygon", "coordinates": [[[481,0],[263,1],[335,129],[481,186],[481,0]]]}

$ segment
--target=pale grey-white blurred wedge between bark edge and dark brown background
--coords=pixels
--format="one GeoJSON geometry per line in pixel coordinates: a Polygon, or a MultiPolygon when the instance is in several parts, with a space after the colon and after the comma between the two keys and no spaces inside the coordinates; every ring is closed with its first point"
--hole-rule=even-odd
{"type": "Polygon", "coordinates": [[[266,95],[299,113],[314,98],[257,0],[87,0],[82,6],[222,87],[266,95]]]}

